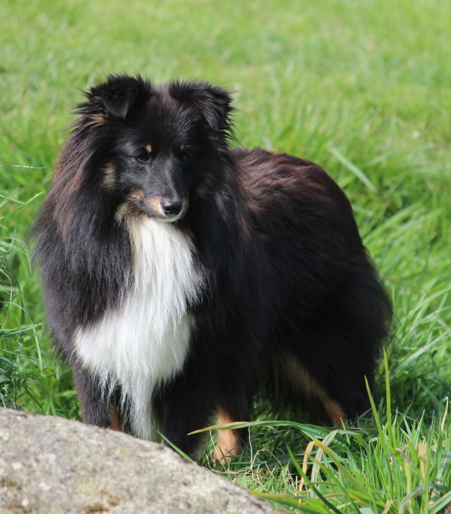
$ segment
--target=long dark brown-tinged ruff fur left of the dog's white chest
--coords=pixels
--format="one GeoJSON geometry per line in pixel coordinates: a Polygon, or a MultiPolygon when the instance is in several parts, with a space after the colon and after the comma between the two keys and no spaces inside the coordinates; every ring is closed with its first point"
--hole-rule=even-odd
{"type": "Polygon", "coordinates": [[[129,236],[114,219],[119,199],[102,188],[102,170],[95,167],[104,143],[101,126],[83,116],[76,122],[31,231],[39,236],[33,259],[42,266],[49,316],[73,324],[96,320],[130,281],[129,236]],[[70,305],[58,305],[61,287],[70,305]]]}

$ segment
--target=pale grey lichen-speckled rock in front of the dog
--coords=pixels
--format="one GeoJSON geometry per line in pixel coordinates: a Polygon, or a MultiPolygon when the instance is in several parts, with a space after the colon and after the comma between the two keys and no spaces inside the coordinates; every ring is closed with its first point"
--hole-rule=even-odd
{"type": "Polygon", "coordinates": [[[275,512],[168,448],[78,421],[0,408],[0,512],[275,512]]]}

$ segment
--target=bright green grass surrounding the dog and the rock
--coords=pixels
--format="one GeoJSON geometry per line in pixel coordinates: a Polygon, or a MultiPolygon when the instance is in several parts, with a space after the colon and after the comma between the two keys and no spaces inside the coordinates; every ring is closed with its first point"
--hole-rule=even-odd
{"type": "MultiPolygon", "coordinates": [[[[262,423],[224,473],[292,512],[451,502],[451,9],[445,0],[0,4],[0,399],[79,418],[51,351],[28,227],[80,89],[109,72],[234,90],[239,141],[321,163],[394,303],[371,419],[262,423]],[[387,377],[387,380],[385,379],[387,377]],[[387,389],[389,384],[389,389],[387,389]],[[387,394],[388,391],[388,394],[387,394]]],[[[211,449],[211,448],[210,448],[211,449]]],[[[209,454],[201,456],[209,465],[209,454]]]]}

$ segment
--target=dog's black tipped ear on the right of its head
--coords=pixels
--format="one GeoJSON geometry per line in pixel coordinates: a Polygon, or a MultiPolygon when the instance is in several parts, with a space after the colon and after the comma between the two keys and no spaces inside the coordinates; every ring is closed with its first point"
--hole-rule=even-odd
{"type": "Polygon", "coordinates": [[[173,82],[170,94],[181,102],[191,102],[198,107],[214,130],[231,130],[232,98],[222,87],[211,86],[207,82],[173,82]]]}

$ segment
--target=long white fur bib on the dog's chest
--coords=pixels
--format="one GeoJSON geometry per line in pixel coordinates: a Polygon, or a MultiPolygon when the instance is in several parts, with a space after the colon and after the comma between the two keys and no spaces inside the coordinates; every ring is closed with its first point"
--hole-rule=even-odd
{"type": "Polygon", "coordinates": [[[155,388],[181,370],[189,351],[194,301],[201,277],[192,244],[173,225],[145,219],[130,225],[134,282],[121,306],[76,331],[78,358],[105,392],[120,384],[136,435],[152,437],[155,388]]]}

